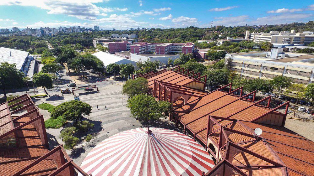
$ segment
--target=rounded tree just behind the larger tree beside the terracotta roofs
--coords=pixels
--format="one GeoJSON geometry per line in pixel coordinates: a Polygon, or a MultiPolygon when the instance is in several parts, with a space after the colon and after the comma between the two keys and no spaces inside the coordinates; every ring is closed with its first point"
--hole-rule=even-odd
{"type": "Polygon", "coordinates": [[[148,80],[138,77],[135,80],[127,80],[122,87],[122,94],[132,97],[138,94],[145,94],[148,90],[148,80]]]}

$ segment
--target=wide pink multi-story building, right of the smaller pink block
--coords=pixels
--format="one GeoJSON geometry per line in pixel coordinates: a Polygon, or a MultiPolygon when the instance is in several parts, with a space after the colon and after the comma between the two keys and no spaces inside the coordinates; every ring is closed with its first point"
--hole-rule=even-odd
{"type": "Polygon", "coordinates": [[[193,53],[194,44],[192,43],[134,43],[130,46],[131,53],[138,54],[175,54],[175,53],[193,53]]]}

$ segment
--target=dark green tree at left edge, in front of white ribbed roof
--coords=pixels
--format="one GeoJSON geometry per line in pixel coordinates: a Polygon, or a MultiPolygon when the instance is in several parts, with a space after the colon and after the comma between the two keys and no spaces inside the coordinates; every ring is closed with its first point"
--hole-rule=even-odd
{"type": "Polygon", "coordinates": [[[23,86],[24,73],[16,68],[16,64],[8,62],[0,63],[0,87],[6,97],[6,89],[19,88],[23,86]]]}

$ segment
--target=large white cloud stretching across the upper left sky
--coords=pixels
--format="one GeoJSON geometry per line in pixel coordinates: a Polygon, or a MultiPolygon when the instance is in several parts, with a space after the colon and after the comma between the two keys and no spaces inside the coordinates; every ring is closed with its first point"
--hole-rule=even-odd
{"type": "Polygon", "coordinates": [[[114,11],[127,11],[127,8],[99,7],[94,3],[109,0],[1,0],[0,5],[35,6],[47,10],[48,14],[63,14],[78,19],[94,20],[114,11]]]}

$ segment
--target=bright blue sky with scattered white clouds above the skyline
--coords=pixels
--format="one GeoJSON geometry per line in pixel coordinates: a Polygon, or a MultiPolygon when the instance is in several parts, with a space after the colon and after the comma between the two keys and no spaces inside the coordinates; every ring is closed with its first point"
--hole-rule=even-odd
{"type": "Polygon", "coordinates": [[[313,12],[311,0],[0,0],[0,28],[262,25],[308,22],[313,12]]]}

